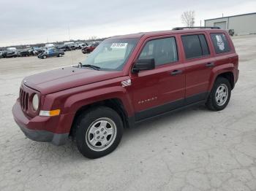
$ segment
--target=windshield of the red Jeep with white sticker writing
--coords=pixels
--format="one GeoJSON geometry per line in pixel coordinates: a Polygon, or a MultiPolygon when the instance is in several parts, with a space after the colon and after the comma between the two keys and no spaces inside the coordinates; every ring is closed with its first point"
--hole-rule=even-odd
{"type": "Polygon", "coordinates": [[[107,39],[91,52],[83,65],[94,65],[99,70],[121,71],[138,39],[107,39]]]}

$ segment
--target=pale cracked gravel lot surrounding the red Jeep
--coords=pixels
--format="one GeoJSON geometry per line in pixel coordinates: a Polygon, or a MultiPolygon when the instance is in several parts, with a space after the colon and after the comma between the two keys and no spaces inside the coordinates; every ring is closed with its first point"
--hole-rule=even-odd
{"type": "Polygon", "coordinates": [[[0,59],[0,190],[256,190],[256,36],[233,39],[240,77],[221,112],[199,106],[127,129],[115,152],[84,158],[26,139],[12,120],[23,77],[76,64],[63,58],[0,59]]]}

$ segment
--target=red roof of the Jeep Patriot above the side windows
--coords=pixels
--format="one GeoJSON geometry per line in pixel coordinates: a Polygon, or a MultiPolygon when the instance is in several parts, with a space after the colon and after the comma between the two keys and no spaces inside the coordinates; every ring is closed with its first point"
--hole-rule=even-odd
{"type": "Polygon", "coordinates": [[[129,39],[129,38],[138,38],[140,39],[142,36],[150,37],[150,36],[163,36],[168,34],[182,34],[182,33],[189,33],[189,32],[202,32],[202,31],[219,31],[221,29],[210,29],[210,28],[203,28],[203,29],[183,29],[183,30],[168,30],[168,31],[151,31],[151,32],[141,32],[137,34],[125,34],[119,36],[111,36],[108,39],[129,39]]]}

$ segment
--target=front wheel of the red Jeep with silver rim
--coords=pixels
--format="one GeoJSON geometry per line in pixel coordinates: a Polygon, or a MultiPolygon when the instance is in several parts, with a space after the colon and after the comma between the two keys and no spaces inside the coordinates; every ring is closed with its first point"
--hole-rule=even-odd
{"type": "Polygon", "coordinates": [[[113,152],[121,141],[124,130],[118,113],[105,106],[80,114],[73,128],[78,150],[84,157],[91,159],[113,152]]]}

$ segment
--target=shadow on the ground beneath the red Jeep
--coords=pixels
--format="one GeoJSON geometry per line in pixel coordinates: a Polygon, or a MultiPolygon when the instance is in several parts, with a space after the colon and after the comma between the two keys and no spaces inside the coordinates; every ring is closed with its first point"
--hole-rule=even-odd
{"type": "MultiPolygon", "coordinates": [[[[179,110],[178,112],[173,112],[171,114],[165,114],[160,117],[155,117],[152,120],[147,120],[145,122],[141,122],[139,125],[136,125],[135,128],[126,128],[124,129],[124,135],[121,140],[121,143],[118,145],[118,149],[121,149],[124,145],[129,144],[135,136],[143,136],[143,133],[151,130],[154,133],[154,130],[157,128],[161,128],[161,124],[170,124],[172,120],[182,121],[184,117],[195,114],[195,112],[208,111],[205,106],[192,106],[187,109],[179,110]],[[148,123],[150,125],[148,125],[148,123]]],[[[54,163],[59,161],[59,163],[66,163],[66,161],[89,161],[90,159],[83,157],[78,151],[75,141],[69,139],[66,144],[63,146],[55,146],[49,143],[42,143],[31,141],[27,139],[26,143],[26,152],[33,152],[34,156],[40,155],[39,160],[48,160],[48,158],[52,158],[54,163]]],[[[106,156],[107,157],[107,156],[106,156]]],[[[48,160],[49,161],[49,160],[48,160]]]]}

